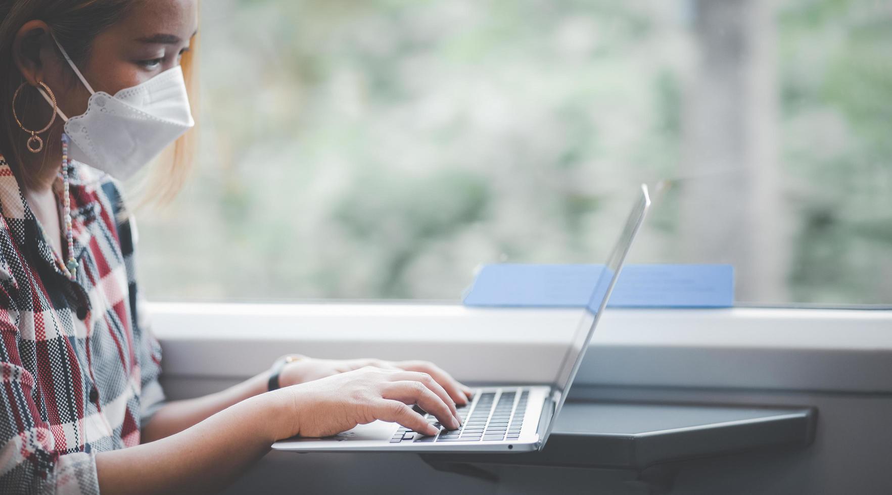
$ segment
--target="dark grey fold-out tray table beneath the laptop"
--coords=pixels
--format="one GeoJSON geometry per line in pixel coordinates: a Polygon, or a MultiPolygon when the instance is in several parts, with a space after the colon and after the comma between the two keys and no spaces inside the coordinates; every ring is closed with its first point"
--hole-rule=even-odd
{"type": "Polygon", "coordinates": [[[745,451],[801,449],[814,439],[815,408],[568,402],[538,452],[425,454],[434,468],[498,481],[492,466],[629,469],[657,487],[673,464],[745,451]]]}

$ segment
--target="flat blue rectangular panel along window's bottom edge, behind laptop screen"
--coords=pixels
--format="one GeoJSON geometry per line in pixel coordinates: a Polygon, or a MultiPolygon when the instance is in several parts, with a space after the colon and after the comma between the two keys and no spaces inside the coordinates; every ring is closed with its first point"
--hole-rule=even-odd
{"type": "MultiPolygon", "coordinates": [[[[466,306],[582,308],[603,265],[500,263],[480,269],[465,293],[466,306]]],[[[731,265],[626,265],[610,308],[729,308],[731,265]]]]}

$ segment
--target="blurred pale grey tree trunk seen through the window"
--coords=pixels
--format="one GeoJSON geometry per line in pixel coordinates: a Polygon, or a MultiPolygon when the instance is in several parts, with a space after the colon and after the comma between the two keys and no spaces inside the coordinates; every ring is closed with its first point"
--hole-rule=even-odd
{"type": "Polygon", "coordinates": [[[773,0],[700,0],[686,105],[685,258],[737,268],[741,301],[786,301],[773,0]]]}

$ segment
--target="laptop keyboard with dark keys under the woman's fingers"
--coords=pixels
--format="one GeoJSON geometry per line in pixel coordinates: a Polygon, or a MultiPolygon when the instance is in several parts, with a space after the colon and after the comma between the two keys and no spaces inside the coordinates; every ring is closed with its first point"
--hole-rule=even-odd
{"type": "Polygon", "coordinates": [[[524,424],[526,404],[530,391],[525,389],[503,389],[501,392],[479,393],[476,401],[458,407],[462,425],[458,430],[447,430],[437,419],[424,411],[425,419],[440,428],[435,436],[415,433],[401,426],[393,433],[391,443],[400,442],[441,442],[441,441],[500,441],[517,440],[524,424]]]}

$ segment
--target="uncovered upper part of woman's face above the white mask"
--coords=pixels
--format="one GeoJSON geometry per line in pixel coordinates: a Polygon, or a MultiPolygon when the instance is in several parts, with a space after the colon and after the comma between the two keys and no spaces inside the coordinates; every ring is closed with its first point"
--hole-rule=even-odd
{"type": "MultiPolygon", "coordinates": [[[[136,2],[122,21],[95,37],[78,70],[94,91],[114,95],[178,66],[197,28],[197,0],[136,2]]],[[[62,89],[56,91],[62,111],[70,116],[87,111],[89,91],[72,78],[67,62],[59,61],[55,71],[47,67],[45,77],[51,88],[62,89]]]]}

